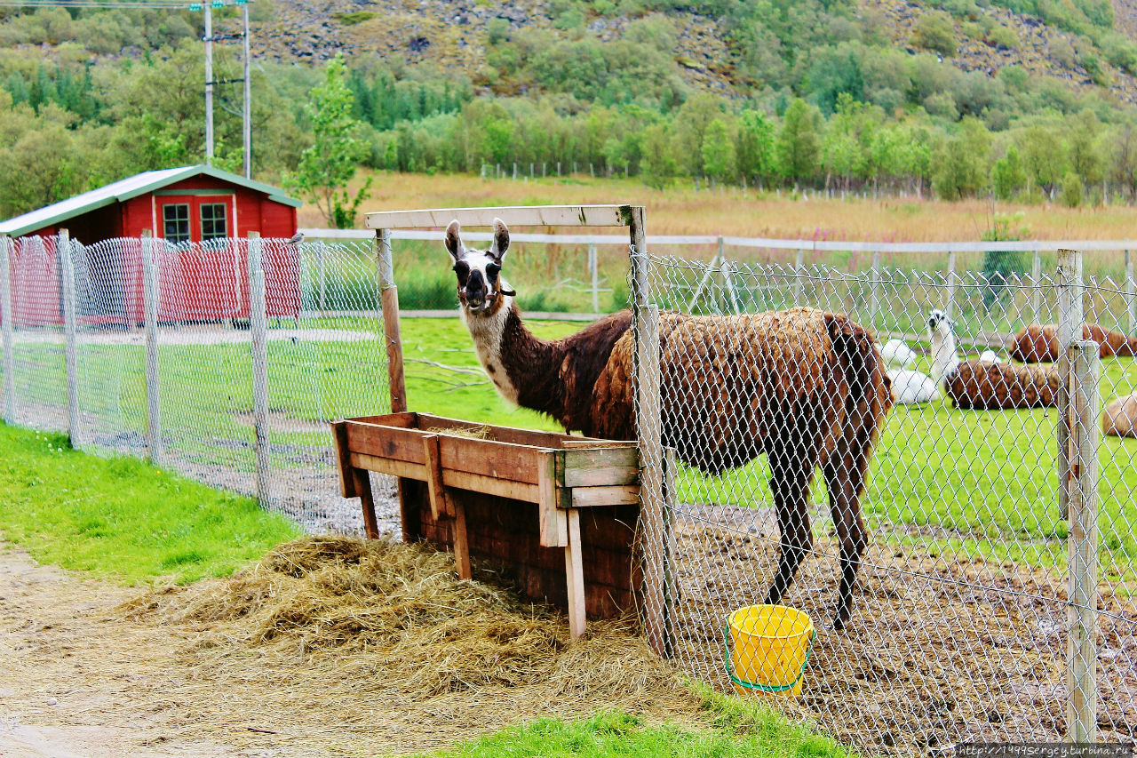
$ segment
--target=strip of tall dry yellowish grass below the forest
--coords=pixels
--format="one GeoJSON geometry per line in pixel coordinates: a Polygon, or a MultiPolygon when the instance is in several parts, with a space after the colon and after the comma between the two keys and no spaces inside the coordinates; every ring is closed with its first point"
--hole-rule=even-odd
{"type": "MultiPolygon", "coordinates": [[[[356,178],[362,183],[363,175],[356,178]]],[[[666,190],[636,179],[575,175],[534,181],[483,180],[467,175],[393,174],[375,178],[363,211],[446,208],[485,205],[636,204],[647,207],[655,234],[816,238],[886,242],[979,240],[994,212],[1022,213],[1036,239],[1126,239],[1137,228],[1137,208],[1078,208],[1015,205],[989,200],[945,203],[916,198],[879,200],[789,199],[740,189],[698,191],[689,182],[666,190]]],[[[322,226],[312,206],[300,208],[301,226],[322,226]]],[[[359,219],[363,225],[363,219],[359,219]]]]}

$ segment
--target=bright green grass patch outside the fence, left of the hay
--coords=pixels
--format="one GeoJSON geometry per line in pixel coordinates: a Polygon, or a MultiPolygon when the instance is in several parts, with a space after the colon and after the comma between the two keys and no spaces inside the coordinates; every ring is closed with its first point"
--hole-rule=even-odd
{"type": "Polygon", "coordinates": [[[255,501],[60,435],[0,425],[0,536],[40,562],[127,583],[227,576],[299,535],[255,501]]]}

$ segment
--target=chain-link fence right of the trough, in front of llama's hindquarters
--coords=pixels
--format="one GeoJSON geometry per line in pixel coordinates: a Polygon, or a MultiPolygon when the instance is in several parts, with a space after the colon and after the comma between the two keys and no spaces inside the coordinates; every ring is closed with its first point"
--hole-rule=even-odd
{"type": "Polygon", "coordinates": [[[1137,347],[1131,286],[1082,286],[1077,254],[1037,278],[632,257],[636,316],[662,336],[655,455],[678,458],[670,532],[646,560],[663,565],[682,668],[728,690],[791,689],[800,659],[778,681],[737,668],[748,635],[791,631],[727,624],[770,599],[816,626],[786,707],[871,752],[1137,736],[1137,402],[1110,417],[1129,438],[1098,439],[1095,397],[1137,390],[1137,363],[1118,357],[1137,347]],[[854,323],[769,313],[794,306],[854,323]],[[1096,348],[1061,360],[1082,310],[1115,347],[1099,369],[1096,348]],[[1020,329],[1055,323],[1036,341],[1056,362],[1011,360],[1020,329]],[[875,430],[874,361],[897,399],[875,430]]]}

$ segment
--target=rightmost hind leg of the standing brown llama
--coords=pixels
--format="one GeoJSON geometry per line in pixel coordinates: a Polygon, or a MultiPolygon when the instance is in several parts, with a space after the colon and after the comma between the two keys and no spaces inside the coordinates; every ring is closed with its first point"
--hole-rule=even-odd
{"type": "Polygon", "coordinates": [[[829,491],[829,510],[841,549],[841,579],[837,593],[837,612],[833,615],[835,629],[845,628],[848,621],[853,584],[856,582],[857,569],[861,568],[861,553],[868,542],[864,520],[861,518],[868,445],[857,444],[860,440],[850,442],[850,448],[843,453],[835,451],[822,467],[825,488],[829,491]]]}

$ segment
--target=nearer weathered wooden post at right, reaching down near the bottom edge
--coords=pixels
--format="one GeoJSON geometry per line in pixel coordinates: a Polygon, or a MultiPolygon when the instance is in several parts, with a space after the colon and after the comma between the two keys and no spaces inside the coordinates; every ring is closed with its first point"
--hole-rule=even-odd
{"type": "Polygon", "coordinates": [[[1067,741],[1097,742],[1097,425],[1098,348],[1076,340],[1067,351],[1070,473],[1070,637],[1067,645],[1067,741]]]}

